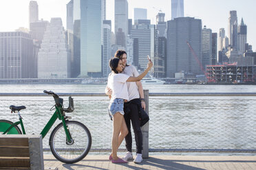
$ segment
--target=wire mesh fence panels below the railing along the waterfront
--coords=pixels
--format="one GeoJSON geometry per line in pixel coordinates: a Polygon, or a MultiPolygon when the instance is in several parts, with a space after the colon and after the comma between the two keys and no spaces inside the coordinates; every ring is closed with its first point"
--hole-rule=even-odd
{"type": "MultiPolygon", "coordinates": [[[[94,94],[95,95],[95,94],[94,94]]],[[[68,106],[67,97],[64,106],[68,106]]],[[[50,96],[0,96],[0,119],[19,121],[10,105],[21,110],[27,134],[40,134],[54,111],[50,96]]],[[[72,120],[84,123],[92,134],[91,151],[110,151],[112,121],[105,96],[74,96],[72,120]]],[[[149,151],[234,151],[256,153],[256,99],[250,95],[149,94],[149,151]]],[[[61,121],[56,121],[56,126],[61,121]]],[[[51,128],[52,132],[54,127],[51,128]]],[[[132,130],[131,130],[132,131],[132,130]]],[[[43,139],[49,148],[50,132],[43,139]]],[[[134,138],[134,136],[133,136],[134,138]]],[[[133,148],[136,148],[133,139],[133,148]]],[[[125,148],[125,142],[120,148],[125,148]]]]}

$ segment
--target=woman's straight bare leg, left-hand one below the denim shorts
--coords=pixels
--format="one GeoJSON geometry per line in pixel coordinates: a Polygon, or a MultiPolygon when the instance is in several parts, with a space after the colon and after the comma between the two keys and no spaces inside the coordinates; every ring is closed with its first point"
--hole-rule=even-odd
{"type": "Polygon", "coordinates": [[[118,137],[122,127],[123,115],[116,112],[113,117],[113,134],[112,134],[112,157],[114,160],[118,159],[117,151],[119,147],[118,137]]]}

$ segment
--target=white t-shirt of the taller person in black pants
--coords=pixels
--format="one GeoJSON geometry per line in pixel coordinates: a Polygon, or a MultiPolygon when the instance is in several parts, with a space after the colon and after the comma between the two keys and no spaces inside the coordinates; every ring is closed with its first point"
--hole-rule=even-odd
{"type": "MultiPolygon", "coordinates": [[[[135,66],[125,66],[125,69],[122,71],[122,73],[132,76],[132,77],[138,77],[139,73],[136,70],[135,66]]],[[[129,100],[132,99],[140,99],[140,93],[138,91],[138,86],[136,82],[127,82],[127,88],[128,88],[128,94],[129,94],[129,100]]]]}

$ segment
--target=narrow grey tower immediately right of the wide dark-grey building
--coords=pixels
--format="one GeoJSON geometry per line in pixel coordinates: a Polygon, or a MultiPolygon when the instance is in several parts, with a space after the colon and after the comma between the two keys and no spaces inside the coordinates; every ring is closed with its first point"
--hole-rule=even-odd
{"type": "Polygon", "coordinates": [[[207,29],[204,25],[202,29],[202,66],[206,69],[206,65],[211,65],[212,56],[212,36],[211,29],[207,29]]]}

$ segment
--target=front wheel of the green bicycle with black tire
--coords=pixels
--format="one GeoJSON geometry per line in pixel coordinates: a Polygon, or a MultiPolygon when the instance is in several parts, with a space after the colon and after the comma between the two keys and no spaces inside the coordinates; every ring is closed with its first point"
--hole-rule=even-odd
{"type": "Polygon", "coordinates": [[[72,164],[87,156],[92,145],[92,136],[87,127],[78,121],[66,121],[72,136],[72,143],[67,143],[63,124],[58,124],[50,135],[49,145],[52,154],[61,162],[72,164]]]}

